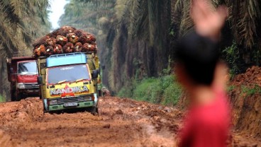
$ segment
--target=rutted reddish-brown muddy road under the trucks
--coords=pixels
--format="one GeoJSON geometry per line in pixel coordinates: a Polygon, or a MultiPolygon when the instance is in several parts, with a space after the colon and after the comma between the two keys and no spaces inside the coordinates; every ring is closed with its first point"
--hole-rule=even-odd
{"type": "MultiPolygon", "coordinates": [[[[0,146],[177,146],[184,112],[126,98],[100,98],[100,116],[89,112],[43,114],[28,98],[0,103],[0,146]]],[[[229,146],[260,146],[234,133],[229,146]]]]}

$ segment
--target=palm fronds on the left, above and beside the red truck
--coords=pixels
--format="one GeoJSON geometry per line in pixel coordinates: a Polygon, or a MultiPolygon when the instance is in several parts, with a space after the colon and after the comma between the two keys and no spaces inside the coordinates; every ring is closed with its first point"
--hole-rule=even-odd
{"type": "Polygon", "coordinates": [[[1,0],[0,2],[0,93],[9,98],[6,57],[30,55],[31,42],[48,33],[48,0],[1,0]]]}

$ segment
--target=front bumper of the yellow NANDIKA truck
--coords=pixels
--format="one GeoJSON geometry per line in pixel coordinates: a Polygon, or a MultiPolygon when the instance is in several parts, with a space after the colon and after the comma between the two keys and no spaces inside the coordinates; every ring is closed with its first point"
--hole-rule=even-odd
{"type": "Polygon", "coordinates": [[[94,101],[78,102],[78,105],[73,107],[65,107],[65,105],[50,105],[48,106],[48,111],[68,110],[96,106],[94,103],[94,101]]]}

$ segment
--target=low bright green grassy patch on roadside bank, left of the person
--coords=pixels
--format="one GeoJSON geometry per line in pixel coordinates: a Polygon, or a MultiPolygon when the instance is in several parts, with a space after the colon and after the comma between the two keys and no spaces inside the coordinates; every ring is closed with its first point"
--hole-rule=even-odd
{"type": "Polygon", "coordinates": [[[121,88],[120,97],[129,97],[162,105],[176,105],[182,88],[173,75],[145,78],[128,88],[121,88]]]}

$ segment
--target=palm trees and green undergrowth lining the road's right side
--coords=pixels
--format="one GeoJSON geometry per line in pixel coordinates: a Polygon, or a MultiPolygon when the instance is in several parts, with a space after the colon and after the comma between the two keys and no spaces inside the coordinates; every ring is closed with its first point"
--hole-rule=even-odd
{"type": "MultiPolygon", "coordinates": [[[[170,95],[168,93],[174,91],[172,87],[177,86],[165,87],[163,83],[175,83],[172,76],[161,76],[161,71],[174,61],[172,48],[176,40],[193,29],[190,2],[71,0],[60,24],[98,35],[101,63],[106,65],[103,80],[110,90],[124,97],[164,103],[167,102],[165,95],[170,95]]],[[[220,4],[229,8],[230,17],[222,30],[221,51],[231,67],[231,74],[259,65],[260,2],[212,0],[211,3],[213,9],[220,4]]]]}

